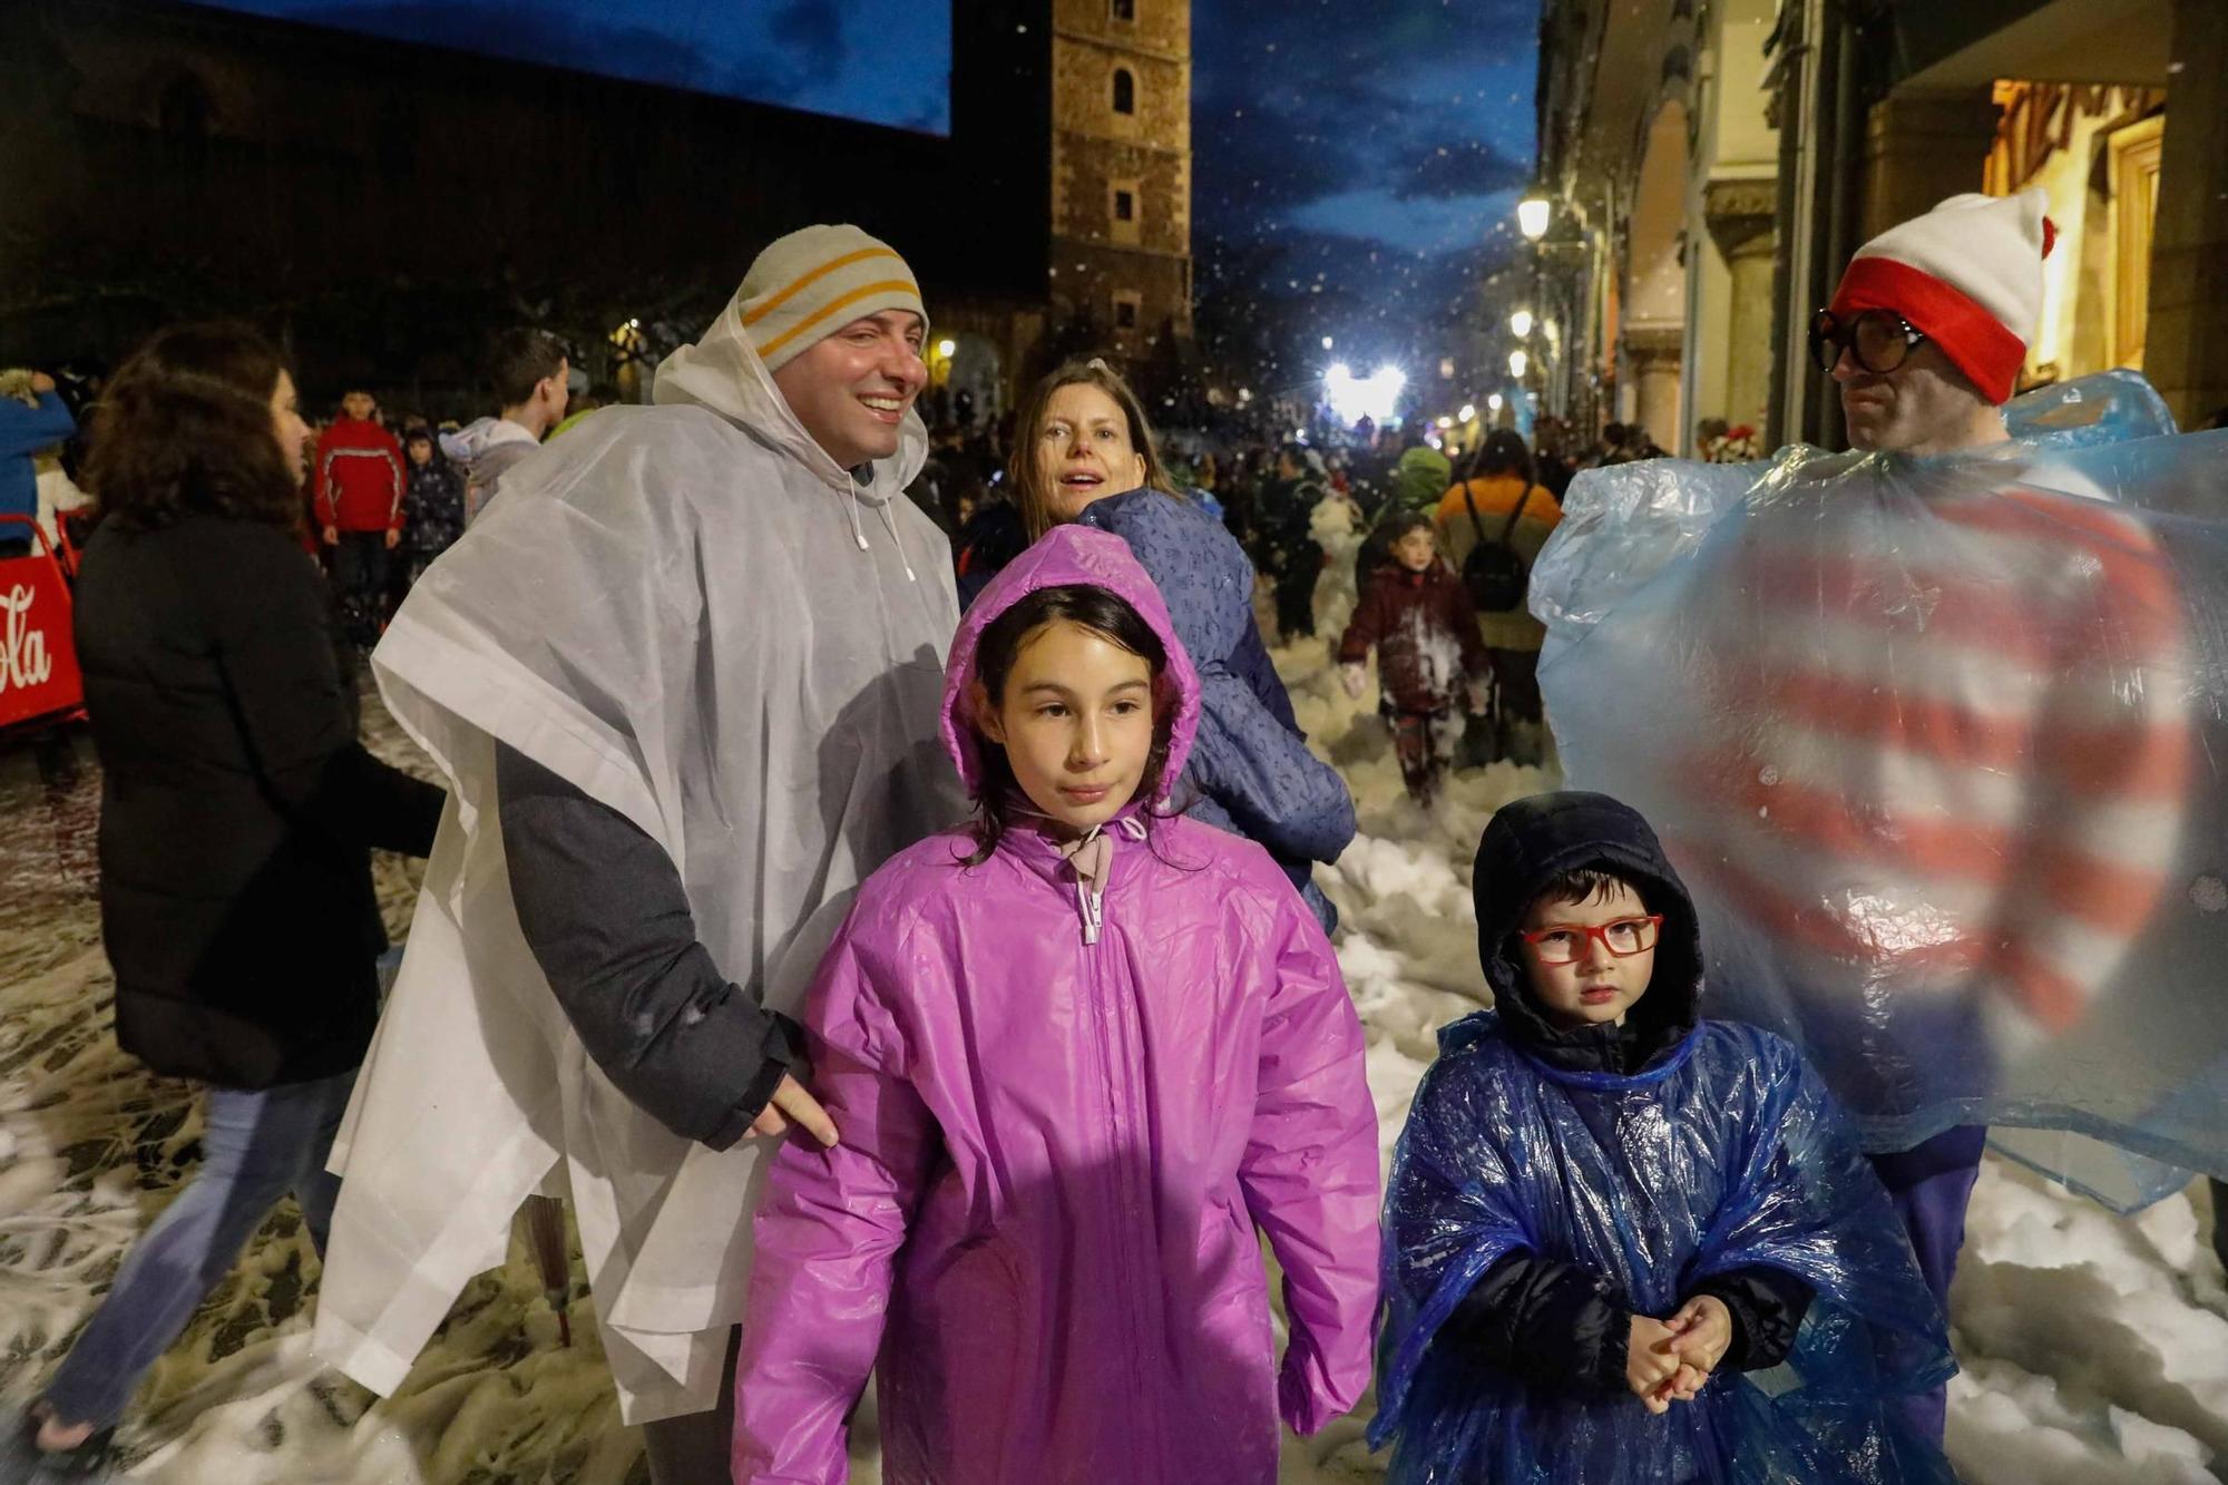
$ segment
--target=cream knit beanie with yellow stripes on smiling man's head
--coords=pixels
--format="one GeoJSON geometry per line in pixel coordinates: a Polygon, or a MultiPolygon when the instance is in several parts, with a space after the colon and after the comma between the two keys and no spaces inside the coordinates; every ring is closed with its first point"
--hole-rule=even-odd
{"type": "Polygon", "coordinates": [[[742,276],[737,299],[769,372],[864,314],[911,310],[929,319],[898,250],[851,225],[798,227],[775,239],[742,276]]]}

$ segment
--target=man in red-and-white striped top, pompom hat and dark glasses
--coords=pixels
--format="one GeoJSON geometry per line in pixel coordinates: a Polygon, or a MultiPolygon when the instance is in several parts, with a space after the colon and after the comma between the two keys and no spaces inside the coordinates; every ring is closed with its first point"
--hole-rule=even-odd
{"type": "MultiPolygon", "coordinates": [[[[1791,1035],[1858,1115],[1943,1302],[1972,1119],[2001,1066],[2103,1003],[2190,774],[2170,566],[2005,430],[2043,205],[1952,196],[1856,254],[1811,357],[1851,446],[1896,457],[1818,457],[1751,495],[1702,584],[1720,598],[1684,620],[1729,722],[1675,756],[1667,834],[1729,905],[1720,952],[1749,934],[1785,981],[1720,1006],[1791,1035]]],[[[1914,1423],[1941,1438],[1941,1391],[1914,1423]]]]}

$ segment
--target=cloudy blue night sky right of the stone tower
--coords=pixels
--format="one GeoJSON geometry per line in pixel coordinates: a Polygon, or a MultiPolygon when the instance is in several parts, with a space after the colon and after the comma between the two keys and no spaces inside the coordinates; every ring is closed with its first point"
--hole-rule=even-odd
{"type": "Polygon", "coordinates": [[[1194,0],[1205,294],[1308,297],[1355,363],[1433,350],[1517,245],[1540,0],[1194,0]]]}

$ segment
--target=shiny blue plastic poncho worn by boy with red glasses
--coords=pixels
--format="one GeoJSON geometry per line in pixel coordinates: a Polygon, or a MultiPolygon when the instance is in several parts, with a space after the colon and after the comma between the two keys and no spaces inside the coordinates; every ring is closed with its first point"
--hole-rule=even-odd
{"type": "Polygon", "coordinates": [[[1950,1481],[1883,1402],[1950,1374],[1943,1320],[1887,1193],[1794,1050],[1704,1023],[1640,1077],[1551,1072],[1493,1012],[1442,1032],[1386,1195],[1386,1327],[1370,1445],[1397,1485],[1814,1485],[1950,1481]],[[1488,1371],[1439,1327],[1528,1249],[1664,1318],[1713,1275],[1776,1266],[1816,1291],[1780,1367],[1693,1402],[1571,1398],[1488,1371]]]}

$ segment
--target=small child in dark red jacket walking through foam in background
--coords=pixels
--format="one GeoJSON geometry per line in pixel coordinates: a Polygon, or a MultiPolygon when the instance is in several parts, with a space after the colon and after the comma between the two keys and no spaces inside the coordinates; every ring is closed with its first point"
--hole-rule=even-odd
{"type": "Polygon", "coordinates": [[[1339,638],[1339,673],[1359,700],[1361,662],[1377,649],[1377,709],[1393,727],[1408,796],[1430,805],[1462,740],[1457,716],[1486,711],[1493,658],[1468,589],[1439,562],[1430,517],[1395,517],[1384,535],[1390,562],[1370,575],[1339,638]]]}

